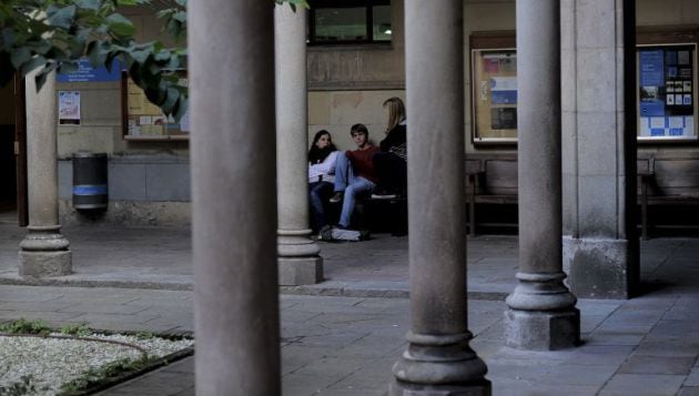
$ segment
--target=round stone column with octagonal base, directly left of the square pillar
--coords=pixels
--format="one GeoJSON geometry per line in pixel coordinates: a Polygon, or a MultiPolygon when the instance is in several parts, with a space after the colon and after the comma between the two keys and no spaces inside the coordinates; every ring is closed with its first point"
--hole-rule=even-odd
{"type": "Polygon", "coordinates": [[[564,285],[560,186],[560,6],[517,1],[519,284],[507,297],[506,345],[578,344],[580,314],[564,285]]]}

